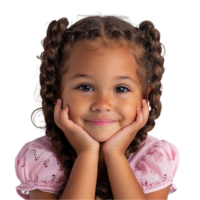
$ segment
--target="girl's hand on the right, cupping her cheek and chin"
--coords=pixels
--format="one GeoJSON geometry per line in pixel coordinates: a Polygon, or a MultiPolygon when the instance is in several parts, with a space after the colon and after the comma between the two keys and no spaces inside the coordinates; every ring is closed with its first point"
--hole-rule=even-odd
{"type": "Polygon", "coordinates": [[[107,154],[125,154],[126,149],[135,138],[137,132],[147,123],[149,117],[149,105],[142,101],[142,110],[137,110],[137,118],[128,126],[116,132],[109,140],[102,145],[102,152],[107,154]]]}

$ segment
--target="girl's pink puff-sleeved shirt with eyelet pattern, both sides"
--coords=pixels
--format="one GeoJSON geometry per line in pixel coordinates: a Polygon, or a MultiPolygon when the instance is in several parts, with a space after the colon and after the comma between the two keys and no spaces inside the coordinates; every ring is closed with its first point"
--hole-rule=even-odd
{"type": "MultiPolygon", "coordinates": [[[[128,162],[145,194],[171,185],[172,195],[176,193],[174,175],[178,160],[179,148],[174,143],[149,134],[128,162]]],[[[18,199],[30,200],[29,191],[35,189],[57,194],[67,182],[60,163],[46,135],[25,142],[14,158],[18,199]]]]}

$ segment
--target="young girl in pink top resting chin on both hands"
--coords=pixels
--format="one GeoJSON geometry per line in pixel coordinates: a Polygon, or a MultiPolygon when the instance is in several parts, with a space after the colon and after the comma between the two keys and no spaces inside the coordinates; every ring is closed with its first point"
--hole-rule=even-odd
{"type": "Polygon", "coordinates": [[[41,106],[31,113],[42,136],[15,157],[17,196],[166,200],[173,194],[179,149],[150,134],[163,106],[166,52],[159,40],[152,21],[101,11],[48,24],[34,89],[41,106]]]}

